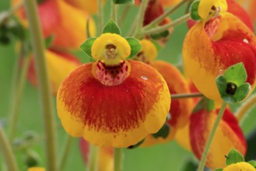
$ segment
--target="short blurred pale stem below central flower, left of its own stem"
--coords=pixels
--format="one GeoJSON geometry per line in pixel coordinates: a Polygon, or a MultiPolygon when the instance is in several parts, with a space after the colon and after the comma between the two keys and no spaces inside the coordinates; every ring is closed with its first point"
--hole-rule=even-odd
{"type": "Polygon", "coordinates": [[[89,165],[88,171],[96,171],[98,163],[98,151],[99,148],[95,145],[89,145],[89,165]]]}

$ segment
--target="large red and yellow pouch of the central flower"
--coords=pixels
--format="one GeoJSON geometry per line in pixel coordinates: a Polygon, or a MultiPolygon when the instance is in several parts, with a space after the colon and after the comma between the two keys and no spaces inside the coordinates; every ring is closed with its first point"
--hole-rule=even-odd
{"type": "Polygon", "coordinates": [[[170,92],[149,65],[129,61],[131,72],[117,86],[104,86],[92,75],[93,64],[72,72],[58,91],[58,116],[72,136],[95,145],[128,147],[163,126],[170,92]]]}

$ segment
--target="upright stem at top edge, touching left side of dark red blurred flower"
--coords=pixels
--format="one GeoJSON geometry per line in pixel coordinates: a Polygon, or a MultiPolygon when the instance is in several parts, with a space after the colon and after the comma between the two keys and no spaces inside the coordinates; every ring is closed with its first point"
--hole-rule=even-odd
{"type": "Polygon", "coordinates": [[[149,0],[142,0],[142,4],[139,8],[139,15],[138,15],[138,23],[137,23],[137,29],[134,34],[134,37],[138,37],[142,33],[142,27],[143,27],[143,20],[146,12],[146,7],[149,4],[149,0]]]}

